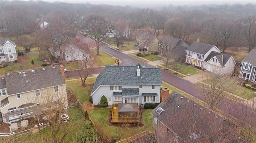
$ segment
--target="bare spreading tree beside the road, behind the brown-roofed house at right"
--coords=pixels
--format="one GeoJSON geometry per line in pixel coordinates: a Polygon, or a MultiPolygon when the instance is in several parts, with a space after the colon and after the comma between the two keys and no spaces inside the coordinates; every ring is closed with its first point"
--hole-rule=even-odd
{"type": "Polygon", "coordinates": [[[218,109],[225,104],[226,96],[234,91],[235,85],[241,84],[241,80],[238,77],[215,72],[206,72],[206,76],[202,77],[202,87],[198,89],[206,104],[212,110],[218,109]]]}

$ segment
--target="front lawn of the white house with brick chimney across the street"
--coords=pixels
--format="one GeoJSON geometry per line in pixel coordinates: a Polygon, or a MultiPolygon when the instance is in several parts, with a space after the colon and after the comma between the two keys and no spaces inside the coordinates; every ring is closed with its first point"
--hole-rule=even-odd
{"type": "MultiPolygon", "coordinates": [[[[162,66],[165,67],[164,64],[162,64],[162,66]]],[[[200,70],[198,70],[198,69],[195,69],[195,68],[193,68],[193,67],[190,67],[190,66],[187,66],[187,65],[180,65],[180,64],[179,64],[179,67],[181,67],[181,66],[182,66],[182,68],[179,69],[179,70],[177,70],[177,72],[180,72],[180,73],[185,74],[185,75],[187,75],[187,76],[190,76],[190,75],[193,75],[193,74],[197,74],[197,73],[202,72],[202,71],[200,71],[200,70]]],[[[174,68],[172,67],[172,65],[169,65],[167,68],[174,70],[174,68]]]]}

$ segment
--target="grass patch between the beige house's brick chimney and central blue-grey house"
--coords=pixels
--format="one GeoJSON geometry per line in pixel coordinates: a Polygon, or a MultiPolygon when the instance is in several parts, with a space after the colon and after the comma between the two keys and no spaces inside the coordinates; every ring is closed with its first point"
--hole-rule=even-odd
{"type": "Polygon", "coordinates": [[[92,87],[95,82],[96,78],[87,78],[85,83],[86,87],[82,87],[81,80],[73,80],[73,81],[66,81],[68,88],[76,94],[78,100],[81,103],[89,101],[90,94],[92,92],[92,87]]]}

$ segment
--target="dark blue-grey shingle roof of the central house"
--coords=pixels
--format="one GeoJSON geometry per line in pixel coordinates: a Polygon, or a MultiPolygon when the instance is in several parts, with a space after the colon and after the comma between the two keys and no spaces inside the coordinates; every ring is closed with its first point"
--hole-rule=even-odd
{"type": "Polygon", "coordinates": [[[159,68],[140,68],[140,76],[136,70],[137,66],[106,66],[96,78],[92,94],[101,85],[162,85],[159,68]]]}

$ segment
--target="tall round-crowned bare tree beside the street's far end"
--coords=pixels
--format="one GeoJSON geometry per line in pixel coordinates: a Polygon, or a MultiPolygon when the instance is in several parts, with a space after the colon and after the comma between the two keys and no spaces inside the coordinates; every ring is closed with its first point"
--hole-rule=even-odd
{"type": "Polygon", "coordinates": [[[90,29],[90,38],[96,43],[97,55],[99,54],[99,48],[103,45],[108,28],[108,23],[105,18],[101,15],[92,14],[86,18],[86,25],[90,29]]]}

